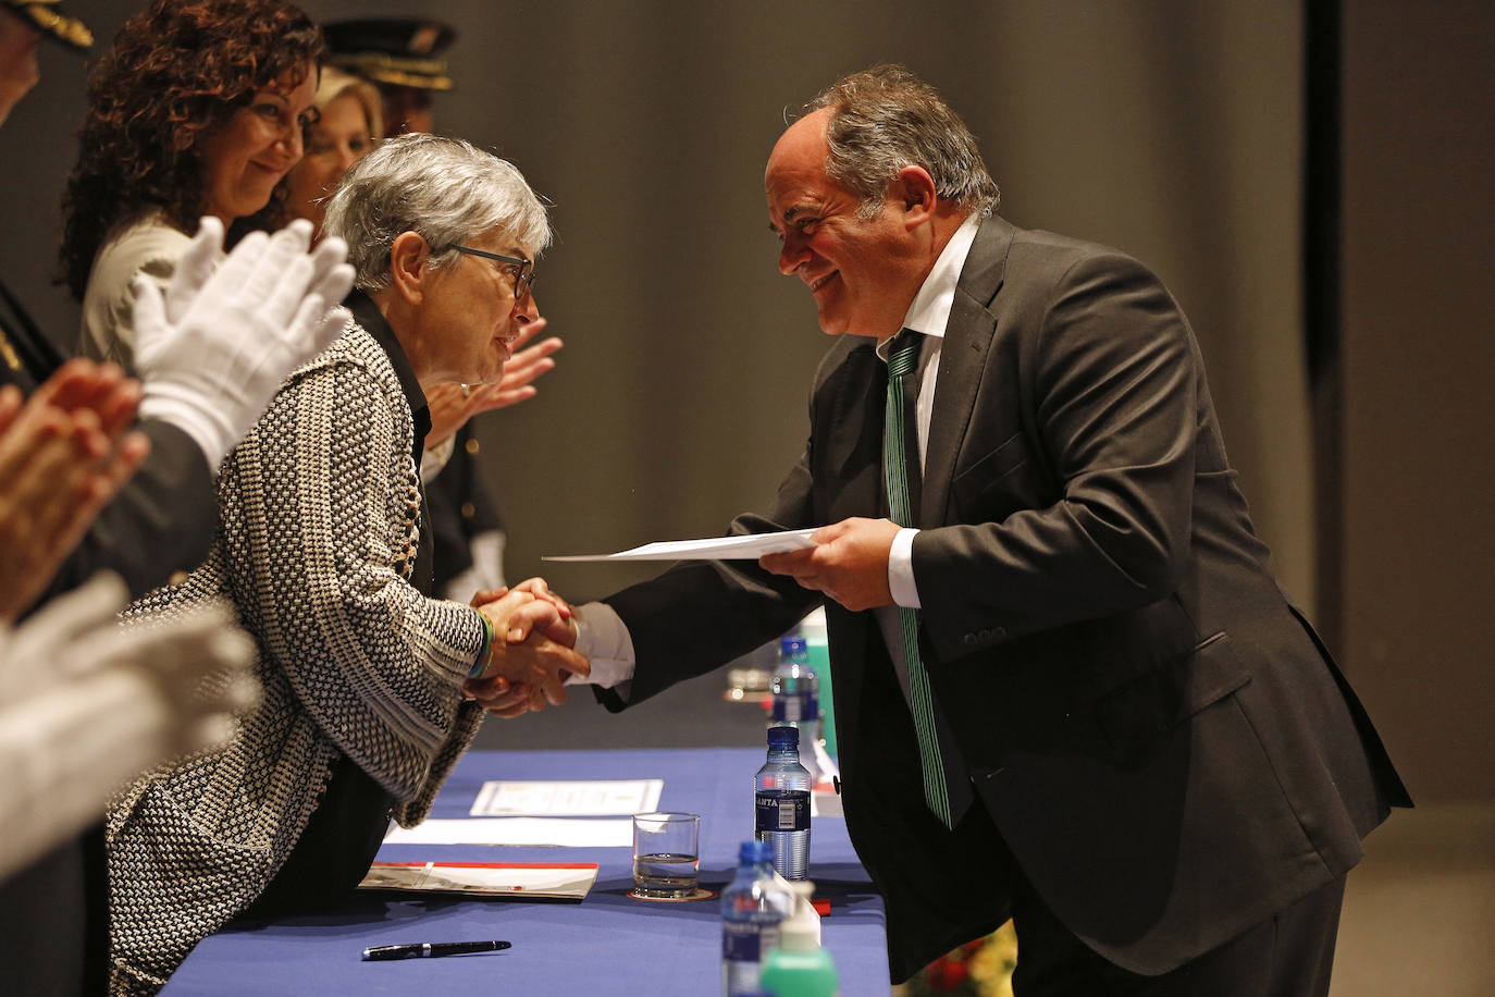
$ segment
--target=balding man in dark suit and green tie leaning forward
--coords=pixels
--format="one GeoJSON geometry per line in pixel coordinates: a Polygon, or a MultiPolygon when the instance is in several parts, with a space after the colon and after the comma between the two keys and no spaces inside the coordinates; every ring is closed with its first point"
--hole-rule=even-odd
{"type": "Polygon", "coordinates": [[[840,338],[804,457],[733,531],[830,525],[582,607],[604,701],[824,599],[894,979],[1011,913],[1018,994],[1326,993],[1344,874],[1410,800],[1272,578],[1178,305],[991,214],[973,138],[897,67],[812,102],[765,187],[840,338]]]}

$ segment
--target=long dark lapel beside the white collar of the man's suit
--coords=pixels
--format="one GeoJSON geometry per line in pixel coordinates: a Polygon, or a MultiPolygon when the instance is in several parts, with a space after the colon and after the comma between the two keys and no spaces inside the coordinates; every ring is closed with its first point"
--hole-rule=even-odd
{"type": "Polygon", "coordinates": [[[994,299],[1002,288],[1002,272],[1015,232],[996,215],[982,221],[955,285],[955,302],[949,309],[945,344],[940,348],[939,380],[934,383],[930,438],[924,450],[924,496],[918,525],[925,529],[945,523],[955,457],[970,427],[976,389],[997,329],[994,299]]]}

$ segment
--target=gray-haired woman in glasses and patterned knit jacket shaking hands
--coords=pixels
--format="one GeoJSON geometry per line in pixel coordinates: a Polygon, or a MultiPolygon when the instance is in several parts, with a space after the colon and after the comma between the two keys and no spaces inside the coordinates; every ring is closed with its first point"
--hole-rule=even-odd
{"type": "Polygon", "coordinates": [[[227,596],[257,643],[265,698],[226,747],[157,770],[112,807],[115,993],[154,993],[241,912],[353,888],[389,816],[420,822],[472,738],[483,712],[465,680],[502,665],[559,703],[565,676],[588,673],[538,580],[477,608],[429,596],[417,472],[422,386],[496,381],[537,317],[544,206],[511,164],[410,135],[348,172],[326,229],[354,247],[353,323],[229,454],[208,561],[126,614],[227,596]]]}

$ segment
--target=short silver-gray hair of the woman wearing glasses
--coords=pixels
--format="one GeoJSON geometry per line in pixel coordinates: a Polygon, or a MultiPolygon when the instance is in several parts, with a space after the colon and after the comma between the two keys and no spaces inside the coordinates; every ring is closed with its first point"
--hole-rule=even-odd
{"type": "Polygon", "coordinates": [[[348,244],[354,284],[389,287],[389,256],[404,232],[431,245],[431,266],[457,259],[453,247],[498,230],[540,254],[550,245],[546,206],[511,163],[462,139],[401,135],[353,164],[327,202],[326,235],[348,244]]]}

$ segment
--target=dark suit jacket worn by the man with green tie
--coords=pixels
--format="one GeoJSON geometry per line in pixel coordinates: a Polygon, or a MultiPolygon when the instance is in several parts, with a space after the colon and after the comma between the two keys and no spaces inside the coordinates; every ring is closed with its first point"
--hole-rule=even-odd
{"type": "MultiPolygon", "coordinates": [[[[879,514],[885,377],[870,339],[831,348],[804,457],[734,531],[879,514]]],[[[1189,323],[1135,260],[982,223],[918,526],[919,641],[976,792],[1048,906],[1118,966],[1156,975],[1220,945],[1343,876],[1387,806],[1410,803],[1274,581],[1189,323]]],[[[815,598],[734,564],[608,602],[632,634],[637,703],[815,598]]],[[[924,812],[872,614],[830,602],[827,622],[848,828],[903,978],[999,922],[1006,876],[924,812]]]]}

